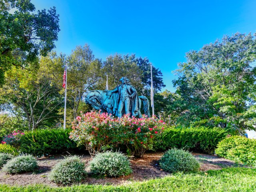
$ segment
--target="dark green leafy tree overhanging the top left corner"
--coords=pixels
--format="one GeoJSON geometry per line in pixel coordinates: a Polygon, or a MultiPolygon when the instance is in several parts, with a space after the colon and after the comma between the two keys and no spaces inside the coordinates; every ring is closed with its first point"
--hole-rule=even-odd
{"type": "Polygon", "coordinates": [[[12,66],[36,65],[39,54],[46,56],[55,48],[60,31],[55,7],[35,11],[30,0],[0,2],[0,86],[12,66]]]}

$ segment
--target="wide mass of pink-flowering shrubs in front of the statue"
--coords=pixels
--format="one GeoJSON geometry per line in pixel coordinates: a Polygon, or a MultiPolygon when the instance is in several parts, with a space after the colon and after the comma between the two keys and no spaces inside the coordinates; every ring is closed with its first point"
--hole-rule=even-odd
{"type": "Polygon", "coordinates": [[[78,124],[73,124],[70,138],[86,146],[92,156],[118,144],[125,144],[134,156],[143,156],[164,129],[164,122],[155,117],[114,118],[107,113],[90,112],[76,120],[78,124]]]}

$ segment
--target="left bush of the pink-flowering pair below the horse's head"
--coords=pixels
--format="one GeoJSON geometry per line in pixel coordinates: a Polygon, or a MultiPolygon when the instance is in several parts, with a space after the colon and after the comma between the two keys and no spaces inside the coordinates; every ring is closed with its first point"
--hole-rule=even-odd
{"type": "Polygon", "coordinates": [[[117,145],[118,120],[107,113],[90,112],[76,117],[70,138],[78,145],[84,145],[91,156],[117,145]]]}

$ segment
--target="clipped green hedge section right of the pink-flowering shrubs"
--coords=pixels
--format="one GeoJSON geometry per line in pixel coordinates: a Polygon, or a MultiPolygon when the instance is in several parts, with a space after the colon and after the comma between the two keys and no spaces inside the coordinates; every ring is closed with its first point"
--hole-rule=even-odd
{"type": "Polygon", "coordinates": [[[154,145],[156,149],[162,150],[175,147],[213,153],[226,134],[222,128],[166,128],[154,145]]]}

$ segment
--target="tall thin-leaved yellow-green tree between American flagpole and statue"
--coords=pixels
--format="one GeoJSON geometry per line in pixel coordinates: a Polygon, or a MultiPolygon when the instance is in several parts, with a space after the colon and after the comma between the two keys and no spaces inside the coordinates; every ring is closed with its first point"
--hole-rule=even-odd
{"type": "Polygon", "coordinates": [[[95,58],[90,46],[77,46],[67,58],[67,101],[72,108],[73,120],[81,106],[84,94],[100,88],[103,82],[102,61],[95,58]]]}

